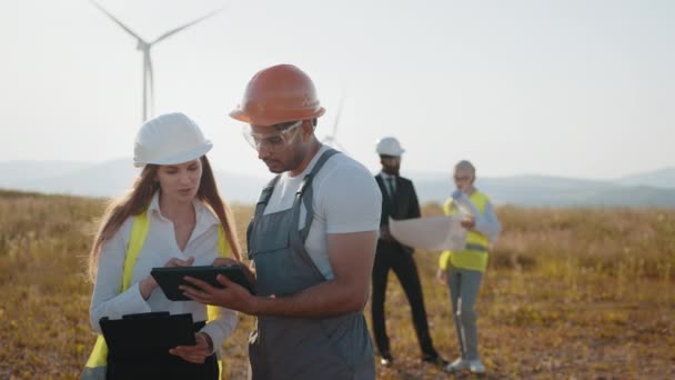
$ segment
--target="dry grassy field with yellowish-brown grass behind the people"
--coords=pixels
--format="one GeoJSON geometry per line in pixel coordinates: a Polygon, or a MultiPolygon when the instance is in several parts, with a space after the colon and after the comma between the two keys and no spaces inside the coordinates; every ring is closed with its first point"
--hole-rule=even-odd
{"type": "MultiPolygon", "coordinates": [[[[84,262],[103,206],[0,191],[0,379],[78,377],[95,338],[84,262]]],[[[234,211],[242,233],[252,210],[234,211]]],[[[477,303],[486,378],[675,378],[674,210],[497,212],[505,232],[477,303]]],[[[424,208],[440,213],[437,204],[424,208]]],[[[434,279],[437,254],[415,258],[434,343],[452,360],[457,348],[447,289],[434,279]]],[[[394,277],[386,297],[395,366],[377,367],[377,378],[449,378],[421,363],[394,277]]],[[[252,321],[242,316],[225,346],[230,379],[245,378],[252,321]]]]}

